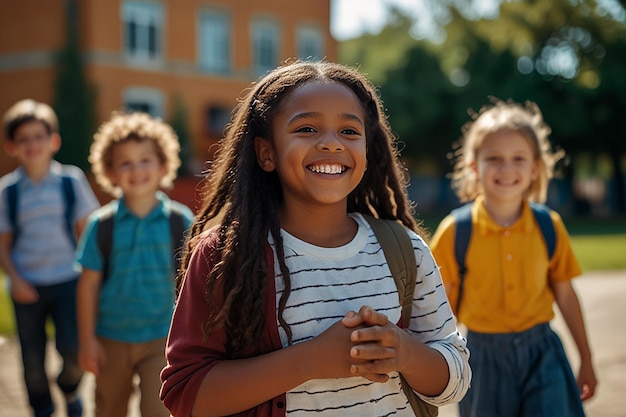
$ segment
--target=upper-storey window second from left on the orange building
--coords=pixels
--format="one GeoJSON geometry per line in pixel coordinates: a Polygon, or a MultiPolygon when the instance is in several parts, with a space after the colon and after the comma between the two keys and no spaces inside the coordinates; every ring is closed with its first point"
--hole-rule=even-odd
{"type": "Polygon", "coordinates": [[[230,17],[219,11],[200,13],[200,68],[218,74],[230,72],[230,17]]]}

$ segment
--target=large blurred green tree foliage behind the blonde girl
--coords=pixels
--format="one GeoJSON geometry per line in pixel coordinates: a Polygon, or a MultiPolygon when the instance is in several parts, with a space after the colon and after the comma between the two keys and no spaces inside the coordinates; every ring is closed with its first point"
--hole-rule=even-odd
{"type": "MultiPolygon", "coordinates": [[[[472,0],[441,0],[441,42],[411,36],[412,18],[393,10],[385,29],[340,48],[380,85],[409,160],[436,162],[444,175],[460,127],[489,96],[537,102],[551,139],[572,160],[609,155],[616,209],[626,212],[626,11],[593,0],[500,1],[477,16],[472,0]],[[393,45],[393,48],[390,47],[393,45]],[[393,51],[389,51],[393,49],[393,51]],[[380,59],[385,57],[385,59],[380,59]]],[[[570,173],[571,174],[571,173],[570,173]]]]}

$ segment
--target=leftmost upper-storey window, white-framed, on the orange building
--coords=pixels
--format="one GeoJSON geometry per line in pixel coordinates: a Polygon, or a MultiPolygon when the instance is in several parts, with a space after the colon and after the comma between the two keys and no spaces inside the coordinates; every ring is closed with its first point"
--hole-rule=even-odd
{"type": "Polygon", "coordinates": [[[160,60],[163,49],[163,7],[157,3],[125,1],[122,20],[126,57],[146,63],[160,60]]]}

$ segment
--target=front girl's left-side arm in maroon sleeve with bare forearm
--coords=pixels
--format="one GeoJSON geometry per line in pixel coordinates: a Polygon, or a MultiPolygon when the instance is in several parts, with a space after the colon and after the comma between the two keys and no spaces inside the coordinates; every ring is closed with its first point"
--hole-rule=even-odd
{"type": "MultiPolygon", "coordinates": [[[[262,345],[248,352],[253,356],[248,359],[230,359],[224,329],[206,337],[203,331],[209,315],[222,304],[219,299],[205,300],[212,261],[211,250],[204,248],[196,249],[191,259],[168,337],[161,399],[172,415],[230,415],[266,403],[310,379],[352,376],[351,366],[360,362],[350,357],[353,329],[340,322],[315,339],[285,349],[279,348],[276,331],[278,340],[272,336],[271,347],[262,345]]],[[[267,294],[274,291],[269,288],[267,294]]],[[[275,320],[275,301],[266,304],[266,316],[275,320]]]]}

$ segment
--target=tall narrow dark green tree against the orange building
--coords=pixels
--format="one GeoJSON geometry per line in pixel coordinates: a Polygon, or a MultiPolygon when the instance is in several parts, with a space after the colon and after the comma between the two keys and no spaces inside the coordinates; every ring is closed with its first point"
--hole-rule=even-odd
{"type": "Polygon", "coordinates": [[[89,82],[78,39],[78,4],[67,2],[65,45],[56,54],[53,106],[63,145],[59,161],[88,170],[87,156],[96,129],[95,88],[89,82]]]}

